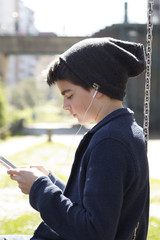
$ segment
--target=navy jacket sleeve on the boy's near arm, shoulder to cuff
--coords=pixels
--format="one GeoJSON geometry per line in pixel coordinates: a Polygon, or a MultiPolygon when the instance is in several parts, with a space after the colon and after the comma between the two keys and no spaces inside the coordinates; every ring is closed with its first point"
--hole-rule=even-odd
{"type": "Polygon", "coordinates": [[[83,205],[66,198],[47,177],[40,177],[33,184],[30,204],[62,239],[114,240],[123,195],[135,174],[134,166],[128,169],[128,162],[132,162],[129,158],[128,150],[120,142],[105,139],[87,159],[83,205]]]}

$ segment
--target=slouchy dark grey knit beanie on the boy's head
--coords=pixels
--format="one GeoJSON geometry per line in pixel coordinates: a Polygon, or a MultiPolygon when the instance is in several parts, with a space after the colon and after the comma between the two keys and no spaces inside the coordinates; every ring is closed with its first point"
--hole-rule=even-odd
{"type": "Polygon", "coordinates": [[[81,80],[119,100],[125,96],[128,78],[145,69],[142,44],[107,37],[82,40],[60,58],[81,80]]]}

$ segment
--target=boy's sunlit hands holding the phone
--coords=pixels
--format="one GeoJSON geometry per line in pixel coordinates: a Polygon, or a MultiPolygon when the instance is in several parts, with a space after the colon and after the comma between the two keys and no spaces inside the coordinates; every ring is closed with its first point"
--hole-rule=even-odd
{"type": "Polygon", "coordinates": [[[45,175],[34,167],[9,169],[7,173],[10,175],[12,180],[17,181],[19,188],[24,194],[29,194],[34,181],[45,175]]]}

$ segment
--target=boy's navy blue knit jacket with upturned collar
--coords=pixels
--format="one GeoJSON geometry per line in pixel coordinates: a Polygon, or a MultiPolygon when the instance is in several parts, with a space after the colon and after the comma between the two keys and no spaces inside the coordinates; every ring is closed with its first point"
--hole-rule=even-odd
{"type": "Polygon", "coordinates": [[[129,109],[118,109],[82,139],[64,192],[48,177],[30,191],[44,222],[32,239],[145,240],[149,173],[143,131],[129,109]]]}

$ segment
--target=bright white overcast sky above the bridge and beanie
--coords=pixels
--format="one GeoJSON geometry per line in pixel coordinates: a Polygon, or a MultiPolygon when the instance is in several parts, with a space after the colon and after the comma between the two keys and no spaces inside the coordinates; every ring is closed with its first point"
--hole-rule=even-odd
{"type": "Polygon", "coordinates": [[[128,21],[146,23],[147,0],[23,0],[35,12],[35,26],[41,32],[59,36],[90,36],[124,21],[124,2],[128,2],[128,21]]]}

